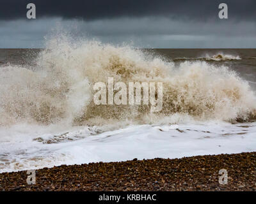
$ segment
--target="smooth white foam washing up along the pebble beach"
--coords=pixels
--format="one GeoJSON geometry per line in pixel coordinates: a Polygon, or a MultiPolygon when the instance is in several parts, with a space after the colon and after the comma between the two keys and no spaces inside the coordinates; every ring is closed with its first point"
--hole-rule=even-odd
{"type": "MultiPolygon", "coordinates": [[[[29,136],[27,133],[26,139],[22,135],[20,140],[16,140],[16,135],[15,140],[2,141],[0,172],[61,164],[126,161],[135,157],[138,159],[180,158],[256,151],[256,123],[140,125],[98,135],[93,135],[93,131],[95,133],[95,129],[76,127],[63,140],[56,140],[57,143],[47,143],[53,137],[52,134],[32,136],[33,133],[29,136]],[[38,136],[42,139],[40,142],[35,141],[38,136]],[[74,136],[77,136],[77,140],[69,140],[74,136]]],[[[62,133],[55,136],[58,137],[62,133]]]]}

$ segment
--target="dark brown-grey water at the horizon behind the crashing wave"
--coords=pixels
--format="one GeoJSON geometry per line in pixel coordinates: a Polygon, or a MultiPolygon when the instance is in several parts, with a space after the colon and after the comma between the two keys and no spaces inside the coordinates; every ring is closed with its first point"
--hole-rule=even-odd
{"type": "MultiPolygon", "coordinates": [[[[29,65],[35,64],[36,56],[43,49],[0,49],[0,66],[7,64],[29,65]]],[[[225,65],[236,71],[240,77],[250,83],[256,90],[256,49],[143,49],[153,55],[161,55],[166,61],[177,64],[184,61],[207,61],[216,66],[225,65]],[[213,56],[231,56],[235,59],[211,59],[213,56]],[[209,59],[205,59],[208,56],[209,59]],[[239,59],[236,59],[239,57],[239,59]]]]}

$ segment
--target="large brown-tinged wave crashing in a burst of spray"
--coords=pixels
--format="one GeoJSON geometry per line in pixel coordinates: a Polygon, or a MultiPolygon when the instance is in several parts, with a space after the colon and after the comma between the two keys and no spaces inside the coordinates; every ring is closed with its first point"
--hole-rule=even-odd
{"type": "Polygon", "coordinates": [[[204,61],[175,67],[129,47],[97,41],[47,41],[33,69],[0,69],[0,124],[31,122],[104,125],[195,120],[247,120],[255,115],[256,98],[247,82],[225,66],[204,61]],[[95,105],[93,84],[108,82],[163,82],[163,110],[148,105],[95,105]]]}

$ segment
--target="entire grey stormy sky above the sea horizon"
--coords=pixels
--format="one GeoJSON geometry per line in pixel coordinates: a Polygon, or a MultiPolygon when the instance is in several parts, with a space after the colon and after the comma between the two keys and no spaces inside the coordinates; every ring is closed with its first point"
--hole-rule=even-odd
{"type": "Polygon", "coordinates": [[[143,48],[255,48],[253,0],[1,0],[0,48],[42,48],[57,30],[143,48]],[[26,5],[36,5],[36,19],[26,5]],[[228,5],[220,19],[218,5],[228,5]]]}

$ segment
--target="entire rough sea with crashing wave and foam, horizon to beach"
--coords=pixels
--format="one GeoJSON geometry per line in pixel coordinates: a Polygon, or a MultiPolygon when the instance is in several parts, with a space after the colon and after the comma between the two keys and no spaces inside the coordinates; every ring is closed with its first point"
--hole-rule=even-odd
{"type": "Polygon", "coordinates": [[[0,49],[0,172],[256,151],[256,49],[54,38],[0,49]],[[162,82],[163,109],[95,105],[93,84],[162,82]]]}

